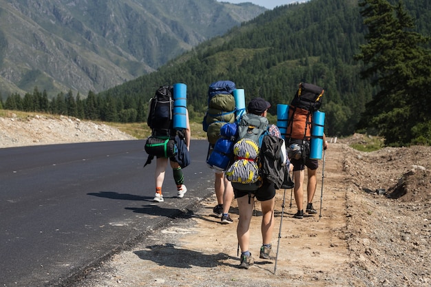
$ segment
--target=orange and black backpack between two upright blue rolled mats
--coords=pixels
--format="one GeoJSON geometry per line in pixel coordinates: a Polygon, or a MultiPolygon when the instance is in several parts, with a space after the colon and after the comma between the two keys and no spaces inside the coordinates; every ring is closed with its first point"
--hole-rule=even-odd
{"type": "Polygon", "coordinates": [[[286,142],[292,150],[300,150],[304,160],[310,153],[311,123],[313,112],[322,105],[324,89],[317,85],[300,83],[288,110],[286,142]]]}

